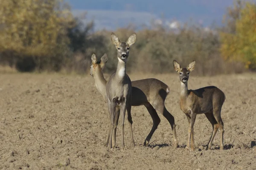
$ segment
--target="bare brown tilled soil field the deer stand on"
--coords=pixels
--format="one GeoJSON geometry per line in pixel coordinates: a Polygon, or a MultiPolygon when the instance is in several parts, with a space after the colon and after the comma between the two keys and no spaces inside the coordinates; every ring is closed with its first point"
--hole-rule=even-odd
{"type": "MultiPolygon", "coordinates": [[[[205,150],[212,127],[204,115],[195,122],[196,151],[184,148],[188,122],[180,111],[178,75],[130,75],[132,80],[154,77],[171,88],[166,108],[175,117],[179,148],[173,148],[171,126],[160,115],[151,146],[143,142],[152,126],[144,106],[132,107],[131,148],[125,119],[125,150],[103,147],[108,129],[107,105],[93,77],[47,74],[0,74],[0,169],[256,169],[256,75],[223,75],[189,79],[189,88],[215,85],[226,94],[220,132],[212,150],[205,150]]],[[[120,129],[117,130],[120,145],[120,129]]]]}

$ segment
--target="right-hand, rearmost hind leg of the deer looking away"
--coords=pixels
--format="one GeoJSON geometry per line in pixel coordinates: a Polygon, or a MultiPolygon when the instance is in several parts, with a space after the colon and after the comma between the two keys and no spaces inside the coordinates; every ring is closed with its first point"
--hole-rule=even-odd
{"type": "Polygon", "coordinates": [[[158,103],[158,105],[153,105],[154,108],[159,111],[160,113],[163,114],[163,116],[168,120],[168,122],[170,123],[171,127],[172,127],[172,133],[173,133],[173,141],[174,141],[174,147],[177,148],[178,147],[178,141],[177,141],[177,134],[176,134],[176,125],[175,125],[175,120],[174,117],[172,116],[171,113],[169,113],[169,111],[167,111],[165,105],[164,105],[164,100],[161,100],[160,103],[158,103]]]}

